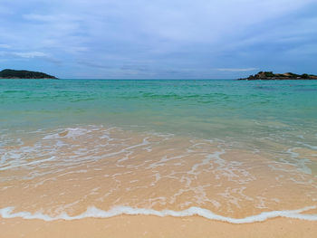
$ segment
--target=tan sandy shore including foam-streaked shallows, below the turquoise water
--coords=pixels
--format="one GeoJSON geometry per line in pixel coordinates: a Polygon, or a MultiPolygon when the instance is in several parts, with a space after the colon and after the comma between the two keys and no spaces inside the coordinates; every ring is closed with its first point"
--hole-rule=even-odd
{"type": "Polygon", "coordinates": [[[0,238],[317,233],[310,149],[270,145],[283,151],[275,155],[220,140],[102,127],[43,131],[21,141],[4,147],[0,238]],[[151,215],[165,210],[172,216],[151,215]],[[304,214],[311,221],[297,219],[304,214]]]}

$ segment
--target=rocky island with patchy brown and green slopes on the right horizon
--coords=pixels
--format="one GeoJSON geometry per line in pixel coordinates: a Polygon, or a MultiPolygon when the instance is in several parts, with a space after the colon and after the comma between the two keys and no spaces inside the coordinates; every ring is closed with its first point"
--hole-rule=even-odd
{"type": "Polygon", "coordinates": [[[238,81],[284,81],[284,80],[317,80],[316,75],[312,74],[296,74],[293,72],[273,73],[273,71],[259,71],[255,75],[250,75],[238,81]]]}

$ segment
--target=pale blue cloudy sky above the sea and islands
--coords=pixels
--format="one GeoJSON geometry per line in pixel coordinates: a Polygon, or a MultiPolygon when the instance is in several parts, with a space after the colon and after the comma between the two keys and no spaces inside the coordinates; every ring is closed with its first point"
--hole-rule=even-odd
{"type": "Polygon", "coordinates": [[[317,0],[0,0],[0,70],[63,79],[317,74],[317,0]]]}

